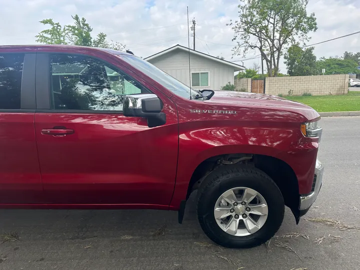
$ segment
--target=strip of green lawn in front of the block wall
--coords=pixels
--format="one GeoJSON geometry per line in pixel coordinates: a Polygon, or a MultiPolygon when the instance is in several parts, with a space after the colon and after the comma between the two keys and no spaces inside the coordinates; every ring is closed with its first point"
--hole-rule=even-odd
{"type": "Polygon", "coordinates": [[[360,110],[360,91],[348,91],[341,95],[285,96],[299,101],[317,111],[360,110]]]}

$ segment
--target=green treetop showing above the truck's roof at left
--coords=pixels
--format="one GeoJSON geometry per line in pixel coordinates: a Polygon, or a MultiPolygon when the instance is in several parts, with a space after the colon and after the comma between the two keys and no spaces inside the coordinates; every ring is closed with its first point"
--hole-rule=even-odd
{"type": "Polygon", "coordinates": [[[80,18],[77,14],[71,16],[73,24],[61,26],[51,18],[40,20],[40,23],[49,25],[49,29],[40,31],[36,37],[36,42],[44,44],[71,44],[80,46],[92,46],[100,48],[110,48],[124,50],[125,45],[113,40],[107,41],[106,34],[100,32],[96,38],[91,37],[92,28],[84,17],[80,18]]]}

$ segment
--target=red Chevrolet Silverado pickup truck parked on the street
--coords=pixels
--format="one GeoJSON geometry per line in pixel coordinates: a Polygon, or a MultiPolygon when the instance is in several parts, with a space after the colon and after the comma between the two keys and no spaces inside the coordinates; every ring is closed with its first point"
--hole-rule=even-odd
{"type": "Polygon", "coordinates": [[[0,46],[0,207],[177,210],[265,242],[314,202],[319,114],[284,98],[197,91],[130,53],[0,46]]]}

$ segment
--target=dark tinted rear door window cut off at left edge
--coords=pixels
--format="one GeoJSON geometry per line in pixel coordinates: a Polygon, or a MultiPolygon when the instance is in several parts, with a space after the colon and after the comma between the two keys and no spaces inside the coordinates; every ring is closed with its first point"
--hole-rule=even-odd
{"type": "Polygon", "coordinates": [[[19,109],[24,53],[0,53],[0,109],[19,109]]]}

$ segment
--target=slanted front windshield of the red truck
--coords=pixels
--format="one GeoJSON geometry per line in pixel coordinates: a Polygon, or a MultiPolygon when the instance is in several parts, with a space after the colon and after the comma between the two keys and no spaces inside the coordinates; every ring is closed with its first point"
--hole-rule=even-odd
{"type": "MultiPolygon", "coordinates": [[[[125,62],[131,64],[136,69],[145,73],[147,76],[169,89],[174,94],[190,98],[190,87],[186,86],[174,77],[171,77],[169,74],[165,73],[148,61],[145,61],[137,56],[125,54],[118,54],[118,56],[120,56],[125,62]]],[[[191,98],[196,98],[198,95],[201,95],[201,93],[191,89],[191,98]]]]}

